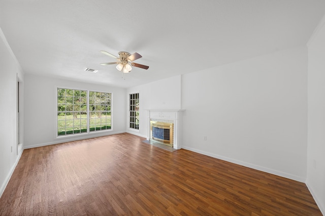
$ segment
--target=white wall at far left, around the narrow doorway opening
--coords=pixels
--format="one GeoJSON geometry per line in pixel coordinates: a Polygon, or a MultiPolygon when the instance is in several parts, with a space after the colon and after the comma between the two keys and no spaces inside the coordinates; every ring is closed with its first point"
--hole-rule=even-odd
{"type": "MultiPolygon", "coordinates": [[[[22,145],[17,145],[17,74],[23,81],[23,73],[7,40],[0,29],[0,196],[14,171],[22,145]]],[[[23,116],[21,116],[23,120],[23,116]]],[[[23,131],[21,131],[23,134],[23,131]]]]}

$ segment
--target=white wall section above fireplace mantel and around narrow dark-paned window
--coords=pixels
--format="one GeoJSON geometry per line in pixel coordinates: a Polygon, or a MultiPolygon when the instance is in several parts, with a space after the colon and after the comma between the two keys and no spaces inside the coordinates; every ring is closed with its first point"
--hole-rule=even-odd
{"type": "MultiPolygon", "coordinates": [[[[126,93],[127,105],[129,94],[140,93],[140,128],[139,130],[128,128],[126,122],[126,131],[147,138],[148,109],[181,109],[181,75],[128,88],[126,93]]],[[[126,113],[129,116],[128,112],[126,113]]]]}

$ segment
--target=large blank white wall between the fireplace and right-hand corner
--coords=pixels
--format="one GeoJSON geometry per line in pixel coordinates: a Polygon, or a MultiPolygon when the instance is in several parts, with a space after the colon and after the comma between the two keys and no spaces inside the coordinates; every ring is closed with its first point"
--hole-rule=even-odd
{"type": "Polygon", "coordinates": [[[305,182],[306,47],[184,74],[182,108],[183,148],[305,182]]]}

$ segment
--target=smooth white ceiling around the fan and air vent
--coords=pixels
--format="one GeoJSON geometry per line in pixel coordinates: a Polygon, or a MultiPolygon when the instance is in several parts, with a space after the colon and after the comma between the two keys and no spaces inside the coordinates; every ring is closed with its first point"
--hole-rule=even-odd
{"type": "Polygon", "coordinates": [[[323,0],[0,0],[0,27],[25,73],[126,88],[306,45],[324,13],[323,0]],[[101,50],[150,67],[122,79],[101,50]]]}

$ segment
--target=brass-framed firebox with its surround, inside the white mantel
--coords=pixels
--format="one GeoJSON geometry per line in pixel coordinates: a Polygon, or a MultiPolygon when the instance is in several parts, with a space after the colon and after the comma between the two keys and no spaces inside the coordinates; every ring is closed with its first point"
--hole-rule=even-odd
{"type": "Polygon", "coordinates": [[[150,120],[151,141],[174,147],[174,123],[150,120]]]}

